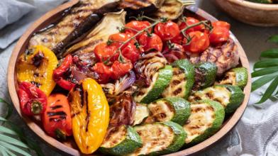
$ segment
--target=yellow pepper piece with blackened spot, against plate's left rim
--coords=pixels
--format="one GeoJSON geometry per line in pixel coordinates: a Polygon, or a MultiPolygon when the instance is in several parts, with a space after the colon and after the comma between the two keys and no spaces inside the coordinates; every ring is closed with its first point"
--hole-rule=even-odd
{"type": "Polygon", "coordinates": [[[18,59],[16,65],[18,82],[35,84],[49,96],[55,87],[52,74],[57,64],[58,60],[54,52],[43,45],[36,45],[32,52],[29,51],[18,59]]]}

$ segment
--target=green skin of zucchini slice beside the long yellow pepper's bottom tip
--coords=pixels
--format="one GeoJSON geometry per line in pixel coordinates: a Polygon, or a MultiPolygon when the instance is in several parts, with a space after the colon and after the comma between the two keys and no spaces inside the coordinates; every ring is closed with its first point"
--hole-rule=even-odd
{"type": "Polygon", "coordinates": [[[127,155],[142,147],[142,140],[136,130],[131,126],[126,126],[126,130],[126,138],[121,143],[109,148],[99,147],[99,151],[108,155],[127,155]]]}

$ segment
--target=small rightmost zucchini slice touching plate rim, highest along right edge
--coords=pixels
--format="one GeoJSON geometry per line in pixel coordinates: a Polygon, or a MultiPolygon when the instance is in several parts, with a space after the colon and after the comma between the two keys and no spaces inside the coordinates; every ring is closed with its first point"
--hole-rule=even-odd
{"type": "Polygon", "coordinates": [[[248,70],[245,67],[230,69],[225,73],[224,78],[219,84],[231,84],[243,89],[248,82],[248,70]]]}

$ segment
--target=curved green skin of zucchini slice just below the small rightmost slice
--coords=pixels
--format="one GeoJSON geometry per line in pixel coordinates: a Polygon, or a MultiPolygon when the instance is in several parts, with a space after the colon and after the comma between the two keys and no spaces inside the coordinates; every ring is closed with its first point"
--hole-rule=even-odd
{"type": "Polygon", "coordinates": [[[240,87],[237,86],[232,86],[232,85],[220,85],[222,87],[226,87],[231,93],[230,96],[230,104],[228,104],[225,108],[226,114],[233,113],[243,102],[245,94],[243,91],[240,89],[240,87]]]}

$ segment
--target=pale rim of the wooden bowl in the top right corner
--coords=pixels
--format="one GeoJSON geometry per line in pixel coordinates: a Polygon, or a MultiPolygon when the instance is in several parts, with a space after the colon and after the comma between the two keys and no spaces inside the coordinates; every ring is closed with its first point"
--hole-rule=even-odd
{"type": "Polygon", "coordinates": [[[267,11],[278,11],[278,4],[260,4],[252,1],[245,0],[226,0],[231,3],[238,4],[240,6],[245,6],[251,9],[267,10],[267,11]]]}

